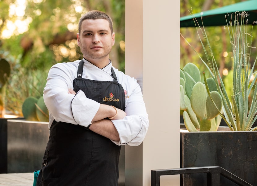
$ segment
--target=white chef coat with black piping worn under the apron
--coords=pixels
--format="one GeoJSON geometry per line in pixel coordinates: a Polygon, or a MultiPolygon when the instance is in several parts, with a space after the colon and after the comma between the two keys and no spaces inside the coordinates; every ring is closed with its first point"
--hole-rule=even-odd
{"type": "MultiPolygon", "coordinates": [[[[87,98],[83,91],[79,91],[76,95],[68,94],[69,88],[73,90],[73,79],[77,77],[80,61],[57,63],[49,70],[44,88],[44,101],[49,110],[49,128],[53,120],[87,127],[100,107],[100,103],[87,98]]],[[[84,59],[82,78],[113,81],[111,67],[111,61],[100,69],[84,59]]],[[[111,120],[120,136],[119,142],[113,142],[117,145],[138,146],[145,138],[149,125],[142,91],[136,79],[114,67],[113,69],[118,82],[124,88],[127,113],[122,120],[111,120]]]]}

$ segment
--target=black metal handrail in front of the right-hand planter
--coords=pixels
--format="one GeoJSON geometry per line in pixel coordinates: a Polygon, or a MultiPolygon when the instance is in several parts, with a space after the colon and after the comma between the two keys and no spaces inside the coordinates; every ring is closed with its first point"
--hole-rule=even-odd
{"type": "Polygon", "coordinates": [[[160,186],[161,175],[177,175],[177,174],[194,174],[194,173],[207,173],[207,185],[218,186],[220,185],[220,175],[233,181],[239,186],[252,186],[231,172],[218,166],[208,167],[188,167],[188,168],[177,168],[177,169],[158,169],[151,170],[151,186],[160,186]]]}

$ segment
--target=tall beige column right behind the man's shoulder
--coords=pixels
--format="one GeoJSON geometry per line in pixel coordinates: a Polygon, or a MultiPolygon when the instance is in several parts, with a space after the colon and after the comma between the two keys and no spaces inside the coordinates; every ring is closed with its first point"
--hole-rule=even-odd
{"type": "MultiPolygon", "coordinates": [[[[126,1],[126,74],[143,87],[149,129],[138,147],[125,147],[126,186],[150,186],[153,169],[180,167],[180,1],[126,1]]],[[[161,176],[161,186],[179,175],[161,176]]]]}

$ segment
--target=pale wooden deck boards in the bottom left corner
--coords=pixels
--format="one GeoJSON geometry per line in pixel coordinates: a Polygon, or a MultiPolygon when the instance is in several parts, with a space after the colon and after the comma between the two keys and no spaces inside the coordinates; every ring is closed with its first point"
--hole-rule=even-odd
{"type": "Polygon", "coordinates": [[[0,186],[33,186],[34,173],[0,174],[0,186]]]}

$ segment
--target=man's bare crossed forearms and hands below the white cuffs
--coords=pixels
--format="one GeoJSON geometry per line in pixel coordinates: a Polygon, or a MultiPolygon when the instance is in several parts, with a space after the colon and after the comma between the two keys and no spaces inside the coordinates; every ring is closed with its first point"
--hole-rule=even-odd
{"type": "MultiPolygon", "coordinates": [[[[76,94],[72,89],[68,89],[69,94],[76,94]]],[[[127,114],[123,110],[116,108],[117,116],[111,120],[123,119],[127,114]]],[[[104,137],[107,137],[113,141],[120,141],[119,133],[111,120],[105,119],[107,117],[115,116],[116,110],[105,104],[100,104],[100,107],[92,120],[92,124],[89,126],[89,130],[98,133],[104,137]]]]}

